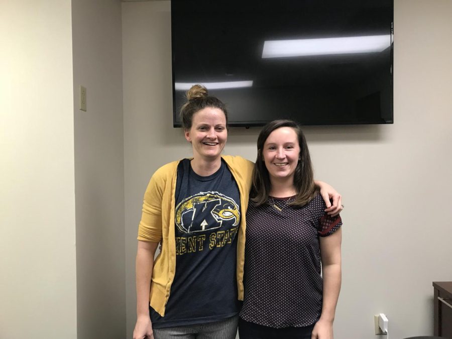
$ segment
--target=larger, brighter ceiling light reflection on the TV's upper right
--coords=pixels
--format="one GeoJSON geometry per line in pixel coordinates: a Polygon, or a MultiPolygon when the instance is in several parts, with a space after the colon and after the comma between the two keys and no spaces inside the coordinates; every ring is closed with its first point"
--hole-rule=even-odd
{"type": "Polygon", "coordinates": [[[391,46],[391,36],[270,40],[264,42],[262,58],[287,58],[307,55],[381,52],[391,46]]]}

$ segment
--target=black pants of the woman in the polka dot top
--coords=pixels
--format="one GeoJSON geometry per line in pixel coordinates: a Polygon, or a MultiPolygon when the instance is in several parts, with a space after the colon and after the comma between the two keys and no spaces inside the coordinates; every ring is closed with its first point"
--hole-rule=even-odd
{"type": "Polygon", "coordinates": [[[314,325],[305,327],[273,328],[239,318],[240,339],[311,339],[314,325]]]}

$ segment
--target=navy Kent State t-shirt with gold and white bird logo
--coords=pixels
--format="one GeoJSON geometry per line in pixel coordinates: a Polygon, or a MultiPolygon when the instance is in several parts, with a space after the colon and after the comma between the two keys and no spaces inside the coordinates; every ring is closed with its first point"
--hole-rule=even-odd
{"type": "Polygon", "coordinates": [[[180,162],[176,181],[176,274],[161,317],[151,308],[154,328],[206,323],[238,314],[237,232],[240,192],[225,162],[214,174],[193,172],[180,162]]]}

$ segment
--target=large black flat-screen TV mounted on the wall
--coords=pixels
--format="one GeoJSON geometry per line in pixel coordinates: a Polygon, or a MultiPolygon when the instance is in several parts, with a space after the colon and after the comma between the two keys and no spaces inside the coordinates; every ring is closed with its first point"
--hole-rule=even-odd
{"type": "Polygon", "coordinates": [[[392,0],[171,0],[174,127],[204,84],[231,126],[393,123],[392,0]]]}

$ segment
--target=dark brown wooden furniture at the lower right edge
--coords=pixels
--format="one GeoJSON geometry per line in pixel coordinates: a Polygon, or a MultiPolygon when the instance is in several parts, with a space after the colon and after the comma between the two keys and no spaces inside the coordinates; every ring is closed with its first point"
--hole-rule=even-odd
{"type": "Polygon", "coordinates": [[[452,339],[452,281],[433,282],[434,334],[452,339]]]}

